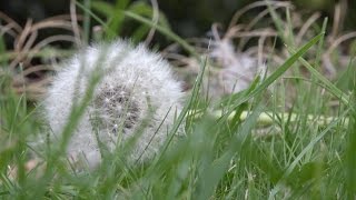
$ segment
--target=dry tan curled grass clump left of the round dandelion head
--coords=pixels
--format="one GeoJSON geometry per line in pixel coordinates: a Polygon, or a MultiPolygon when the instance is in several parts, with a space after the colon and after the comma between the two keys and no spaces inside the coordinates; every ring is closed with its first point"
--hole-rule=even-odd
{"type": "Polygon", "coordinates": [[[67,42],[71,46],[79,44],[80,39],[72,34],[73,27],[70,14],[48,18],[33,22],[28,19],[22,28],[14,20],[0,12],[2,53],[0,56],[0,76],[11,74],[11,87],[19,94],[26,93],[29,100],[39,100],[46,93],[46,87],[51,81],[46,76],[52,71],[57,59],[72,53],[69,49],[59,49],[52,43],[67,42]],[[39,40],[39,34],[46,30],[59,29],[63,32],[39,40]],[[6,49],[4,37],[13,41],[13,47],[6,49]]]}

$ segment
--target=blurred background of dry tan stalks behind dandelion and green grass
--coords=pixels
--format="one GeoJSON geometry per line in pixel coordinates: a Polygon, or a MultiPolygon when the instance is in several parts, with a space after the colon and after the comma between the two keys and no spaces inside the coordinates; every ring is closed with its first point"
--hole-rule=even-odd
{"type": "MultiPolygon", "coordinates": [[[[187,82],[186,89],[191,88],[199,71],[195,54],[208,51],[211,60],[216,61],[215,71],[219,71],[212,74],[217,91],[221,90],[220,86],[225,86],[221,80],[231,78],[229,84],[234,84],[236,77],[246,79],[243,89],[253,80],[256,71],[260,70],[258,68],[264,67],[270,54],[274,57],[268,63],[274,67],[280,66],[289,57],[285,49],[286,40],[280,38],[286,39],[291,31],[295,41],[287,44],[300,47],[320,33],[323,21],[328,18],[320,71],[333,80],[343,76],[339,72],[345,71],[350,58],[356,53],[355,0],[270,0],[268,2],[274,4],[284,21],[283,30],[278,30],[266,2],[0,1],[0,52],[3,52],[0,53],[0,66],[8,66],[3,69],[10,69],[11,84],[17,92],[28,92],[32,99],[38,99],[46,92],[46,86],[50,83],[49,74],[56,71],[56,63],[70,57],[82,44],[121,37],[130,38],[134,43],[145,42],[150,49],[159,50],[177,67],[175,69],[187,82]],[[238,20],[236,13],[241,13],[238,20]],[[155,14],[158,16],[157,19],[155,14]],[[158,24],[166,33],[152,28],[152,24],[158,24]],[[170,33],[167,34],[167,31],[170,33]],[[175,34],[180,37],[180,42],[175,34]],[[276,52],[273,52],[274,50],[276,52]],[[23,84],[27,86],[26,91],[23,84]]],[[[306,58],[315,60],[318,57],[316,52],[314,50],[306,58]]],[[[345,87],[346,89],[348,88],[345,87]]]]}

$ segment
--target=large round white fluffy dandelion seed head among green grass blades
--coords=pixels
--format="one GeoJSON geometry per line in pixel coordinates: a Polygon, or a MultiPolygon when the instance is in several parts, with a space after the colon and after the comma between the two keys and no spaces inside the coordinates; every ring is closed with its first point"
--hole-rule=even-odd
{"type": "Polygon", "coordinates": [[[181,109],[180,83],[161,57],[142,44],[134,48],[121,40],[90,47],[59,70],[44,100],[47,120],[56,138],[61,137],[68,123],[73,101],[82,99],[91,74],[98,71],[105,76],[70,140],[68,153],[83,153],[89,166],[96,167],[101,159],[96,133],[113,150],[120,138],[127,141],[142,120],[150,118],[130,161],[152,158],[165,142],[175,113],[181,109]]]}

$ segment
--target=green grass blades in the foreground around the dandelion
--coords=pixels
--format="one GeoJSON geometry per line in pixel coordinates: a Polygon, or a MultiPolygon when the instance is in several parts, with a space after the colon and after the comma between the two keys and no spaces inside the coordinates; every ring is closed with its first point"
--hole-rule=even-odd
{"type": "MultiPolygon", "coordinates": [[[[156,27],[192,51],[167,28],[135,13],[125,14],[156,27]]],[[[274,18],[280,27],[276,13],[274,18]]],[[[115,27],[119,29],[118,24],[115,27]]],[[[46,140],[49,131],[40,117],[40,103],[29,104],[26,94],[14,94],[9,89],[10,77],[2,74],[0,199],[355,199],[355,79],[350,80],[352,90],[343,91],[314,68],[318,61],[304,59],[310,48],[323,51],[324,30],[299,48],[293,47],[293,36],[288,36],[290,57],[284,64],[218,103],[201,98],[207,64],[202,57],[194,89],[169,131],[170,140],[159,156],[144,166],[128,166],[118,159],[126,157],[125,150],[105,157],[95,171],[78,172],[68,166],[65,149],[100,77],[92,77],[85,98],[72,108],[65,137],[52,144],[46,140]],[[295,79],[283,79],[287,70],[303,66],[312,79],[297,79],[301,77],[300,69],[294,70],[295,79]],[[285,96],[290,92],[286,81],[297,82],[297,96],[288,111],[284,107],[285,96]],[[275,88],[273,98],[266,94],[267,88],[275,88]],[[330,101],[339,106],[330,108],[330,101]],[[261,127],[261,113],[270,116],[267,127],[261,127]],[[330,120],[320,123],[326,117],[330,120]],[[180,123],[187,136],[172,142],[180,123]],[[33,152],[32,141],[39,136],[47,146],[33,152]],[[41,162],[28,171],[26,163],[33,153],[41,162]],[[10,171],[13,168],[16,176],[10,171]]],[[[191,54],[197,57],[196,52],[191,54]]],[[[352,62],[349,69],[355,72],[352,62]]]]}

